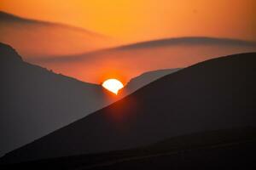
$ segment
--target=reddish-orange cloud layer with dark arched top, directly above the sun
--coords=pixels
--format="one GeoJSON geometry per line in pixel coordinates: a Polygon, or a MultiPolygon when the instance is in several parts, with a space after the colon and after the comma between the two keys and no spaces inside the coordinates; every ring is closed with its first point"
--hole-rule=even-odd
{"type": "Polygon", "coordinates": [[[247,52],[256,52],[256,42],[216,37],[177,37],[29,61],[86,82],[97,82],[106,72],[113,75],[119,73],[121,79],[125,77],[126,83],[146,71],[184,68],[207,59],[247,52]],[[74,69],[67,70],[67,67],[74,69]]]}

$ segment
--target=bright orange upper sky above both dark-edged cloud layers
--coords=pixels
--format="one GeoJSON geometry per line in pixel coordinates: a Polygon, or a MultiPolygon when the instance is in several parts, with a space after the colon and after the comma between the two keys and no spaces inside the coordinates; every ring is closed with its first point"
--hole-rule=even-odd
{"type": "Polygon", "coordinates": [[[207,36],[256,40],[254,0],[1,0],[0,10],[124,42],[207,36]],[[254,10],[254,11],[253,11],[254,10]]]}

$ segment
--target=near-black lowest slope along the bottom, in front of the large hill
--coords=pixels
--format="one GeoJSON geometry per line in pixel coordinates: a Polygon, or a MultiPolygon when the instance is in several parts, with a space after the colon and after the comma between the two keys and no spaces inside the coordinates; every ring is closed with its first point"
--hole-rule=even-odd
{"type": "Polygon", "coordinates": [[[25,169],[242,169],[255,167],[256,128],[192,133],[131,150],[0,166],[25,169]]]}

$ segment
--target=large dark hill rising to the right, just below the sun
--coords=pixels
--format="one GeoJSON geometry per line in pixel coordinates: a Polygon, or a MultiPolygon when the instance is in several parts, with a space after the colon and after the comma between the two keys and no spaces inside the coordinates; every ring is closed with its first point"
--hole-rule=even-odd
{"type": "Polygon", "coordinates": [[[256,54],[190,66],[3,157],[6,162],[124,150],[162,139],[255,126],[256,54]]]}

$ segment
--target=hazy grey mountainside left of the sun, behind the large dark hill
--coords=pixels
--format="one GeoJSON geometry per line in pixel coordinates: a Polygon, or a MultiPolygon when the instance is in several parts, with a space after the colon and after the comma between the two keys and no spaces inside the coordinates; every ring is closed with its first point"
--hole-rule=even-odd
{"type": "Polygon", "coordinates": [[[0,156],[108,105],[100,85],[24,62],[0,43],[0,156]]]}

